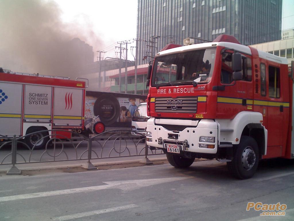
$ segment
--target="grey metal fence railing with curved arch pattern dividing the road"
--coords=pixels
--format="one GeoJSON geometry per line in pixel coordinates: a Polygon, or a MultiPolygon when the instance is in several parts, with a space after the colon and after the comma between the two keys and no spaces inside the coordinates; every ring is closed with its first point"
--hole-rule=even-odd
{"type": "Polygon", "coordinates": [[[136,139],[129,130],[121,129],[95,136],[44,130],[21,137],[0,135],[0,139],[0,165],[12,165],[7,174],[20,174],[16,164],[87,160],[86,168],[95,169],[93,159],[145,156],[142,162],[148,164],[148,155],[163,154],[146,146],[145,137],[136,139]]]}

